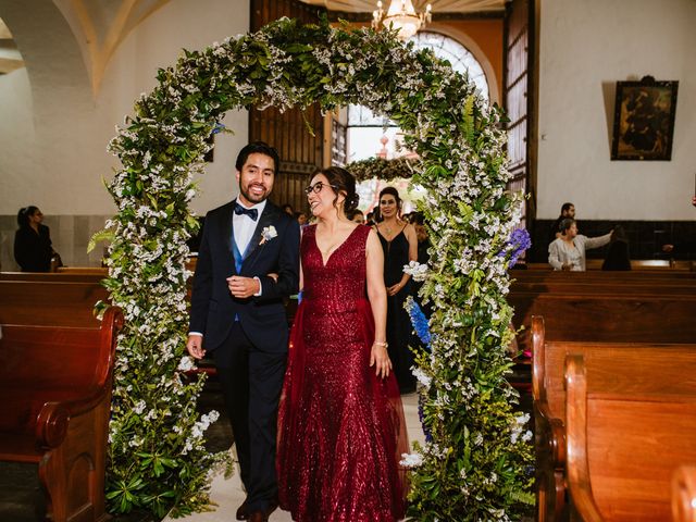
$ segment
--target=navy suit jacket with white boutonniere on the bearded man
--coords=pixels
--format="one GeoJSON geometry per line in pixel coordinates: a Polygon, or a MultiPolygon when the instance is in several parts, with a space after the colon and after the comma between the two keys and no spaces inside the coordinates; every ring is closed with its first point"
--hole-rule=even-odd
{"type": "Polygon", "coordinates": [[[285,352],[288,325],[283,298],[297,294],[299,288],[299,225],[266,201],[237,274],[234,208],[235,201],[231,201],[206,215],[194,276],[189,331],[203,333],[203,347],[212,351],[227,338],[236,316],[258,350],[285,352]],[[275,227],[277,236],[262,241],[261,234],[270,226],[275,227]],[[278,274],[277,282],[269,273],[278,274]],[[259,277],[261,296],[233,297],[225,279],[235,274],[259,277]]]}

